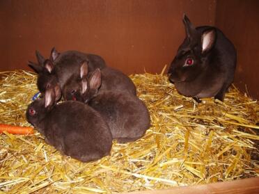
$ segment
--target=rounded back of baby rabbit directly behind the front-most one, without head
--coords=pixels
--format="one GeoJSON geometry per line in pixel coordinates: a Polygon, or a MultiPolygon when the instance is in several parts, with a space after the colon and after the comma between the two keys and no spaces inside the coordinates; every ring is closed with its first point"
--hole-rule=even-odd
{"type": "Polygon", "coordinates": [[[100,92],[89,105],[107,121],[119,143],[141,138],[150,127],[146,105],[136,96],[120,92],[100,92]]]}

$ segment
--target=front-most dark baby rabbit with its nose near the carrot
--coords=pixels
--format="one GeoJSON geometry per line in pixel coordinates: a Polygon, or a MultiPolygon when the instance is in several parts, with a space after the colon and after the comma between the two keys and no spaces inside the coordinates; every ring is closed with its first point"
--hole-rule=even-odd
{"type": "Polygon", "coordinates": [[[49,88],[45,97],[32,102],[26,111],[28,122],[45,136],[49,145],[74,159],[86,162],[109,155],[111,131],[101,115],[82,102],[56,105],[55,95],[49,88]]]}

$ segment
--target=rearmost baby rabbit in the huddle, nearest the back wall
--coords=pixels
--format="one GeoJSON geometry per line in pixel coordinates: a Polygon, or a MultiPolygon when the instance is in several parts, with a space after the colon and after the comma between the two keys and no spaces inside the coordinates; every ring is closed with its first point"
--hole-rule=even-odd
{"type": "Polygon", "coordinates": [[[31,67],[38,74],[37,86],[40,92],[44,93],[47,88],[58,85],[61,89],[65,82],[78,72],[81,61],[88,61],[89,70],[106,67],[102,57],[94,54],[84,54],[79,51],[65,51],[58,53],[52,49],[49,59],[45,59],[39,51],[36,51],[38,64],[29,61],[31,67]]]}

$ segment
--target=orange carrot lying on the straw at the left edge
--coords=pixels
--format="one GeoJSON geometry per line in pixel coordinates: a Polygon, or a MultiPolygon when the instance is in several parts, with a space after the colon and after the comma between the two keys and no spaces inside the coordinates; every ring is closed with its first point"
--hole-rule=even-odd
{"type": "Polygon", "coordinates": [[[33,134],[33,128],[31,127],[20,127],[10,124],[0,124],[0,134],[3,133],[3,131],[8,132],[9,134],[33,134]]]}

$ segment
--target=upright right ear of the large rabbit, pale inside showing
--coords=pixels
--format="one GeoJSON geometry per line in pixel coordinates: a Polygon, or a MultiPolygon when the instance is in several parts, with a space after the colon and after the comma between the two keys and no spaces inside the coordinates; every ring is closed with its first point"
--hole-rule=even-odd
{"type": "Polygon", "coordinates": [[[214,29],[210,29],[208,31],[203,32],[201,35],[201,53],[205,53],[209,51],[214,45],[216,39],[216,31],[214,29]]]}

